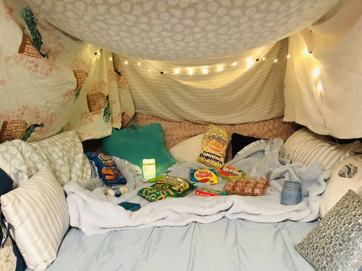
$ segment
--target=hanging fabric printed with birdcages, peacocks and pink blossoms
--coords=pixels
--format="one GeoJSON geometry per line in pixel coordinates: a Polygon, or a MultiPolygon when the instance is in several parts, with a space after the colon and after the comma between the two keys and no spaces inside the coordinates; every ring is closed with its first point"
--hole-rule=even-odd
{"type": "MultiPolygon", "coordinates": [[[[85,140],[120,128],[112,54],[61,33],[25,7],[0,0],[0,142],[69,129],[85,140]]],[[[133,107],[132,100],[127,104],[133,107]]]]}

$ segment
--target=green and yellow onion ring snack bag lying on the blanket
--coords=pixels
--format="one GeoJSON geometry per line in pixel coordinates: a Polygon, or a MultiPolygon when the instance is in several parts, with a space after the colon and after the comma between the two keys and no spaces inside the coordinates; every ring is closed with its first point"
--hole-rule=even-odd
{"type": "Polygon", "coordinates": [[[195,186],[195,184],[191,184],[179,177],[164,176],[161,180],[157,181],[157,183],[151,185],[151,187],[139,190],[138,195],[149,201],[169,197],[183,197],[189,191],[193,190],[195,186]]]}

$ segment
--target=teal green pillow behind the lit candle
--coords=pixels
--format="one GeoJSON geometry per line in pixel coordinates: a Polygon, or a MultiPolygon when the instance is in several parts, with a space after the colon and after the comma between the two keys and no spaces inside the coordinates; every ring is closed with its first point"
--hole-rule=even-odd
{"type": "Polygon", "coordinates": [[[159,123],[145,126],[112,129],[112,135],[102,141],[102,151],[138,165],[142,170],[144,158],[154,158],[156,175],[176,163],[166,150],[162,127],[159,123]]]}

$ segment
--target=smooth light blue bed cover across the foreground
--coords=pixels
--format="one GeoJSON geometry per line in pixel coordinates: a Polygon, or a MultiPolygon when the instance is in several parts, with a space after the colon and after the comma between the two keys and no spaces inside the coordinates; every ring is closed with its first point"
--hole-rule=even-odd
{"type": "Polygon", "coordinates": [[[223,218],[97,236],[71,228],[47,271],[314,271],[294,245],[317,224],[223,218]]]}

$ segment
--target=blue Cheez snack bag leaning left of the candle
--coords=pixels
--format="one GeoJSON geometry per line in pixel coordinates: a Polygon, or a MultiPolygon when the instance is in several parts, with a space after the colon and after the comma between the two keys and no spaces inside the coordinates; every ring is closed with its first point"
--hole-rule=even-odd
{"type": "Polygon", "coordinates": [[[123,177],[118,166],[113,162],[111,156],[102,152],[86,153],[88,159],[95,163],[99,177],[107,186],[125,185],[126,179],[123,177]]]}

